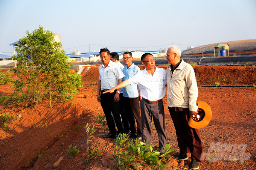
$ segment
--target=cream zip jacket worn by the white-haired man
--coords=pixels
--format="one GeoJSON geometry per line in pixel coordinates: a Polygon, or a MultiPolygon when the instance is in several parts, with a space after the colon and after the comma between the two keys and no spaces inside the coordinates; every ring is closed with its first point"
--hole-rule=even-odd
{"type": "Polygon", "coordinates": [[[182,60],[173,74],[171,65],[167,67],[166,73],[168,107],[189,108],[189,111],[197,111],[198,88],[193,67],[182,60]]]}

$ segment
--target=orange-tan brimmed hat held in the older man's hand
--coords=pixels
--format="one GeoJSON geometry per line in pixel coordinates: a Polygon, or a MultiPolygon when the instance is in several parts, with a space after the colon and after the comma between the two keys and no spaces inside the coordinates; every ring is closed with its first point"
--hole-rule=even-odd
{"type": "Polygon", "coordinates": [[[212,110],[206,102],[198,101],[198,115],[200,116],[199,120],[194,120],[192,115],[189,117],[189,126],[194,129],[204,128],[210,123],[212,119],[212,110]]]}

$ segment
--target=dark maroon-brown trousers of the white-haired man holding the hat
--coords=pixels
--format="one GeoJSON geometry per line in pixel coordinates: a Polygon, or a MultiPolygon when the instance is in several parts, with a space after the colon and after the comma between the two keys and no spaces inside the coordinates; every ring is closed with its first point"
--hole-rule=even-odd
{"type": "Polygon", "coordinates": [[[178,146],[181,154],[191,153],[191,159],[204,162],[203,144],[197,129],[188,125],[189,110],[173,111],[169,107],[169,111],[176,129],[178,146]]]}

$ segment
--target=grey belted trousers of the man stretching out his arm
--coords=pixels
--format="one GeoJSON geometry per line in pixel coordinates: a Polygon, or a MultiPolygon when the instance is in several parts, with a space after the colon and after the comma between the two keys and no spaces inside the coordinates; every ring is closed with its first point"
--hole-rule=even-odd
{"type": "Polygon", "coordinates": [[[140,112],[142,119],[142,141],[144,142],[144,140],[146,140],[148,141],[148,144],[151,143],[152,129],[150,123],[152,122],[153,117],[159,139],[158,151],[164,152],[165,145],[167,144],[167,138],[165,135],[165,110],[163,107],[163,101],[149,104],[142,100],[140,102],[140,112]]]}

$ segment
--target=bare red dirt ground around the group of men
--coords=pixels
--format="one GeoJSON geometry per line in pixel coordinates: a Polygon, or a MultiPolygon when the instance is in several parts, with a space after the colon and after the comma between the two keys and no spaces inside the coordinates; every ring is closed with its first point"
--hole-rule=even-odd
{"type": "MultiPolygon", "coordinates": [[[[161,67],[166,69],[166,66],[161,67]]],[[[0,122],[0,170],[107,169],[103,166],[101,159],[108,153],[113,153],[114,140],[101,137],[108,131],[98,126],[95,120],[98,114],[103,113],[100,103],[96,100],[97,86],[95,82],[98,82],[98,66],[87,66],[87,68],[82,72],[84,87],[78,89],[79,91],[72,102],[55,102],[52,109],[47,102],[41,102],[36,107],[29,104],[21,106],[12,104],[0,108],[0,114],[15,116],[14,119],[0,122]],[[87,69],[88,67],[91,68],[87,69]],[[42,121],[41,128],[40,121],[42,121]],[[7,123],[8,128],[5,128],[5,123],[7,123]],[[88,144],[84,129],[86,123],[97,129],[92,141],[88,141],[88,144]],[[70,144],[76,145],[76,149],[80,151],[71,159],[66,156],[70,144]],[[94,158],[88,164],[84,164],[87,157],[87,147],[91,147],[93,150],[95,148],[101,149],[100,152],[103,155],[94,158]],[[37,154],[38,151],[41,151],[40,158],[37,154]],[[64,159],[58,167],[54,168],[53,164],[61,156],[64,156],[64,159]]],[[[143,69],[142,66],[140,68],[143,69]]],[[[199,163],[200,169],[256,169],[256,90],[253,87],[248,87],[252,86],[253,83],[256,84],[256,67],[195,66],[194,69],[198,80],[198,101],[209,104],[213,115],[209,125],[199,129],[204,152],[206,155],[208,154],[208,157],[205,158],[206,161],[199,163]],[[226,79],[224,83],[222,78],[226,79]],[[213,86],[212,84],[217,81],[223,87],[216,89],[203,87],[204,85],[213,86]],[[245,153],[250,153],[250,159],[244,162],[244,165],[240,164],[239,161],[235,162],[235,159],[217,161],[214,156],[218,150],[216,152],[208,150],[212,146],[211,142],[228,144],[229,146],[246,144],[245,153]]],[[[7,70],[1,71],[6,72],[7,70]]],[[[15,75],[13,77],[15,78],[15,75]]],[[[13,89],[9,85],[0,86],[0,97],[11,95],[12,92],[13,89]]],[[[169,115],[166,97],[163,101],[168,143],[178,150],[175,129],[169,115]]],[[[153,131],[152,144],[158,144],[155,130],[153,131]]],[[[177,152],[171,153],[171,155],[176,154],[177,152]]],[[[189,169],[190,161],[190,159],[184,161],[183,166],[179,162],[176,169],[189,169]]],[[[139,167],[138,169],[150,168],[139,167]]]]}

